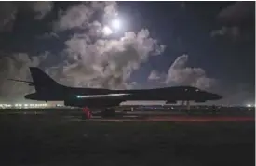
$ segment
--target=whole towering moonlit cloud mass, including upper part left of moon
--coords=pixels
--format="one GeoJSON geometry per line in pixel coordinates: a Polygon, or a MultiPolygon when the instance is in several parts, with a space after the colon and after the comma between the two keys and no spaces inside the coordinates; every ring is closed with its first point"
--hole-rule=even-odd
{"type": "Polygon", "coordinates": [[[58,72],[49,69],[56,79],[74,86],[130,88],[129,78],[150,56],[160,55],[164,45],[150,37],[147,29],[125,32],[118,38],[108,38],[104,27],[117,16],[115,2],[87,2],[62,11],[54,24],[55,31],[74,31],[65,41],[63,61],[58,72]],[[95,19],[100,13],[101,19],[95,19]],[[101,20],[101,21],[100,21],[101,20]],[[75,31],[80,30],[80,31],[75,31]]]}

